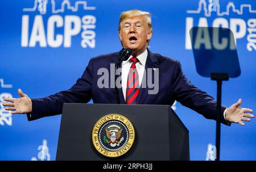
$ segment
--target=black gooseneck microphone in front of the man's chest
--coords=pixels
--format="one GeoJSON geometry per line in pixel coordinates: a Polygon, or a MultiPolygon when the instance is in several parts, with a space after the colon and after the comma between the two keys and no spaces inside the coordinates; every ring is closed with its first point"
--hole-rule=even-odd
{"type": "MultiPolygon", "coordinates": [[[[119,56],[120,57],[118,58],[117,62],[115,62],[115,82],[117,81],[117,69],[120,67],[122,61],[128,60],[128,58],[131,56],[131,49],[123,48],[119,53],[119,56]]],[[[116,83],[115,83],[115,98],[117,99],[117,104],[120,104],[119,92],[118,92],[116,83]]]]}

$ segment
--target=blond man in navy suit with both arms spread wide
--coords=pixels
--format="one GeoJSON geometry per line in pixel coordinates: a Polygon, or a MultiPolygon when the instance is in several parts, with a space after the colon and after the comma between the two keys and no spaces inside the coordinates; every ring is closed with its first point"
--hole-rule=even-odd
{"type": "MultiPolygon", "coordinates": [[[[122,12],[119,20],[119,39],[123,48],[132,50],[131,56],[122,62],[121,87],[118,89],[120,103],[127,104],[170,104],[175,100],[186,107],[202,114],[207,119],[216,120],[216,100],[197,89],[185,77],[179,61],[150,52],[147,47],[152,36],[151,18],[148,12],[130,10],[122,12]],[[158,71],[158,91],[149,94],[148,87],[142,87],[147,69],[158,71]],[[131,82],[134,81],[134,82],[131,82]],[[130,87],[131,85],[131,87],[130,87]]],[[[44,116],[61,114],[63,103],[117,103],[113,87],[100,87],[98,75],[100,69],[110,71],[115,64],[119,52],[94,57],[89,61],[81,78],[71,89],[61,91],[40,99],[30,99],[22,90],[18,90],[20,98],[6,98],[3,106],[12,114],[27,114],[28,120],[44,116]]],[[[153,74],[153,75],[154,75],[153,74]]],[[[154,77],[153,77],[154,78],[154,77]]],[[[110,84],[111,85],[111,84],[110,84]]],[[[250,121],[254,115],[248,108],[239,107],[241,99],[230,107],[222,106],[221,123],[239,123],[250,121]]]]}

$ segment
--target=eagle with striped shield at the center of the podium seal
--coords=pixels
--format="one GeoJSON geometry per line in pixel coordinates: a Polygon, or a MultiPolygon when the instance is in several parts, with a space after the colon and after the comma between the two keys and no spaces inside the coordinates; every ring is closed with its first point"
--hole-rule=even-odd
{"type": "Polygon", "coordinates": [[[105,128],[105,131],[106,136],[104,136],[104,142],[112,147],[119,146],[124,139],[123,137],[120,139],[123,129],[118,125],[110,125],[105,128]]]}

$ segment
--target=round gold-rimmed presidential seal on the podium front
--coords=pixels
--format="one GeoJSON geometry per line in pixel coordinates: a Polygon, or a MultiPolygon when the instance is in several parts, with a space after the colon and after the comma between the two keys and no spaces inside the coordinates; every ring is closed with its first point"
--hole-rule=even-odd
{"type": "Polygon", "coordinates": [[[106,157],[119,157],[128,152],[133,145],[134,137],[133,124],[119,114],[103,116],[92,131],[94,147],[106,157]]]}

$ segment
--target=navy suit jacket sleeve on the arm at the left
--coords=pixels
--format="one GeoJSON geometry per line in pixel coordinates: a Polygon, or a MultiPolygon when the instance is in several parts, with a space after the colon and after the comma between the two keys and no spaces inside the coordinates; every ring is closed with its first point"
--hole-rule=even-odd
{"type": "Polygon", "coordinates": [[[89,61],[82,76],[77,79],[75,85],[69,90],[49,95],[45,98],[31,99],[32,112],[27,114],[28,121],[43,118],[45,116],[62,113],[64,103],[87,103],[92,99],[92,75],[93,59],[89,61]]]}

